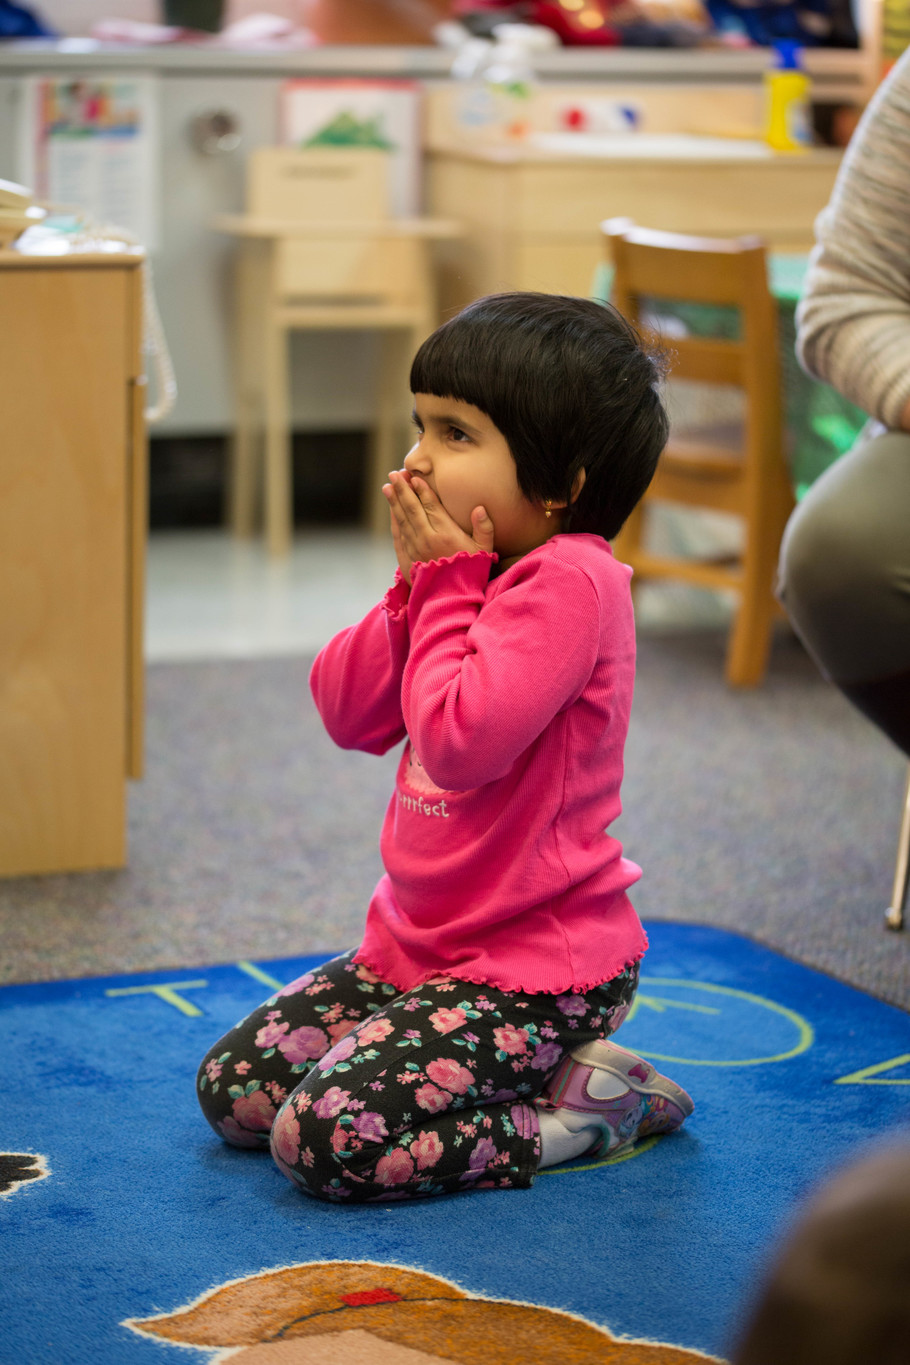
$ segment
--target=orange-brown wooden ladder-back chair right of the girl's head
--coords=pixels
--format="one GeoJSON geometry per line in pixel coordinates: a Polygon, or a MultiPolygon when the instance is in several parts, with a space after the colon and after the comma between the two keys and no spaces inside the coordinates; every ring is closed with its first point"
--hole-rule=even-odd
{"type": "MultiPolygon", "coordinates": [[[[733,306],[737,340],[686,334],[666,341],[673,378],[735,385],[745,396],[738,445],[715,437],[678,437],[660,457],[655,479],[615,541],[617,557],[639,580],[681,579],[704,588],[733,588],[739,598],[726,659],[734,687],[764,677],[778,606],[774,576],[793,493],[783,450],[778,311],[768,289],[764,246],[756,238],[722,240],[639,228],[628,218],[600,225],[614,265],[613,302],[648,334],[655,300],[733,306]],[[644,546],[656,501],[734,513],[744,524],[733,561],[662,557],[644,546]]],[[[660,340],[660,339],[658,339],[660,340]]]]}

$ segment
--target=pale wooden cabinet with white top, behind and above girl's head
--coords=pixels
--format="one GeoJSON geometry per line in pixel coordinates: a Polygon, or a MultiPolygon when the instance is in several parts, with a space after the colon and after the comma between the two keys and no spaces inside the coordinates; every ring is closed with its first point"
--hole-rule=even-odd
{"type": "Polygon", "coordinates": [[[480,293],[589,295],[606,259],[603,218],[705,236],[757,233],[772,251],[808,251],[840,154],[591,156],[533,149],[428,154],[430,212],[461,218],[441,253],[443,315],[480,293]]]}

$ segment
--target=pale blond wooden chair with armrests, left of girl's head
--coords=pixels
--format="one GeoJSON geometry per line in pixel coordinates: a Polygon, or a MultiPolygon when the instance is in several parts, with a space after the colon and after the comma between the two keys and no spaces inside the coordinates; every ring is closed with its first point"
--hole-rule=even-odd
{"type": "Polygon", "coordinates": [[[381,487],[408,449],[411,358],[435,326],[430,259],[452,222],[389,216],[387,153],[357,147],[261,147],[250,157],[247,212],[216,220],[241,243],[236,289],[237,412],[228,476],[236,535],[256,524],[263,489],[269,551],[293,532],[288,340],[295,329],[383,333],[366,519],[387,532],[381,487]],[[265,433],[265,442],[261,435],[265,433]],[[262,445],[265,445],[265,479],[262,445]]]}

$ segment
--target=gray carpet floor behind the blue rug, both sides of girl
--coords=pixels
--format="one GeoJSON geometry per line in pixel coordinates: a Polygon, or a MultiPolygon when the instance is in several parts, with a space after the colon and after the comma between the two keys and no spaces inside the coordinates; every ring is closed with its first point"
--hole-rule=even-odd
{"type": "MultiPolygon", "coordinates": [[[[754,692],[722,633],[645,635],[617,826],[645,917],[716,924],[910,1009],[883,928],[906,763],[787,633],[754,692]]],[[[342,753],[307,659],[149,669],[130,867],[0,882],[0,981],[333,953],[359,938],[397,755],[342,753]]]]}

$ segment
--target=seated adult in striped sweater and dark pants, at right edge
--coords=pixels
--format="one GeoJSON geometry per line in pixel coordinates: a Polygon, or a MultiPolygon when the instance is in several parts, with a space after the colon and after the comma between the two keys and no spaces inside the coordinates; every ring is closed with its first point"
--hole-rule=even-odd
{"type": "Polygon", "coordinates": [[[873,419],[790,519],[779,595],[821,672],[910,755],[910,51],[816,222],[804,369],[873,419]]]}

